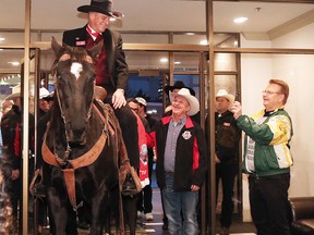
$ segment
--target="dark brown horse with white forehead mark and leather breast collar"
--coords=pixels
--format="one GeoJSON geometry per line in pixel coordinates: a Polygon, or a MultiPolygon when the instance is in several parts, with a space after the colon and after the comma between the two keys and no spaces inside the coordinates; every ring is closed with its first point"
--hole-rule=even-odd
{"type": "Polygon", "coordinates": [[[85,50],[61,46],[55,38],[51,45],[57,55],[55,104],[41,152],[52,233],[77,234],[76,210],[84,205],[90,212],[90,234],[102,234],[119,184],[121,145],[112,110],[94,97],[93,58],[102,45],[85,50]]]}

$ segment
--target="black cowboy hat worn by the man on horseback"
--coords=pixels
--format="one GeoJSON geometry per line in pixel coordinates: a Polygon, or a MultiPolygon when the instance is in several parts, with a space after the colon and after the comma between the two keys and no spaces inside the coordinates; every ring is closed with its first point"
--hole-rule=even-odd
{"type": "Polygon", "coordinates": [[[89,5],[81,5],[77,8],[77,11],[88,13],[88,12],[99,12],[111,17],[121,17],[120,12],[113,12],[111,10],[112,1],[111,0],[92,0],[89,5]]]}

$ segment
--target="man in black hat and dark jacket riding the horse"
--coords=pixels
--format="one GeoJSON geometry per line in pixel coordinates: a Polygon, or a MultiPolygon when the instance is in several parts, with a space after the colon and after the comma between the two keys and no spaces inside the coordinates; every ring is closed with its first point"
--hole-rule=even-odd
{"type": "MultiPolygon", "coordinates": [[[[118,32],[110,30],[110,17],[122,14],[112,11],[111,0],[92,0],[89,5],[77,8],[80,12],[87,13],[88,22],[85,26],[63,34],[62,42],[72,47],[92,48],[102,41],[104,46],[95,61],[96,85],[106,88],[107,97],[104,100],[113,107],[119,120],[123,140],[126,146],[130,163],[136,170],[140,165],[140,153],[136,118],[126,104],[124,91],[128,83],[128,64],[122,50],[122,38],[118,32]]],[[[125,198],[125,202],[136,205],[137,197],[125,198]]],[[[83,214],[86,214],[83,212],[83,214]]],[[[132,234],[135,233],[136,209],[129,211],[132,234]]],[[[87,215],[88,217],[88,215],[87,215]]],[[[86,217],[80,217],[83,226],[86,217]]],[[[86,224],[86,223],[85,223],[86,224]]]]}

